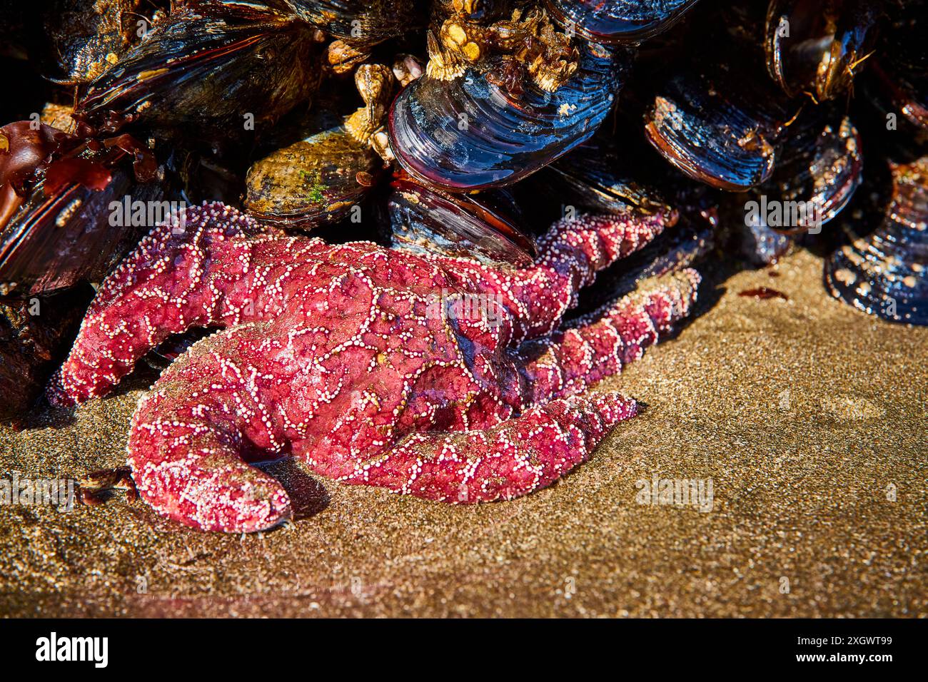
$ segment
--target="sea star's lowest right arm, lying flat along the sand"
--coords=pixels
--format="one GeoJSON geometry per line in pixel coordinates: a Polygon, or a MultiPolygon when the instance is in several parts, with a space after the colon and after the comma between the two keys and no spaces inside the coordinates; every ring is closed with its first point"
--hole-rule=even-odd
{"type": "Polygon", "coordinates": [[[341,480],[447,502],[511,499],[574,469],[635,411],[615,392],[554,400],[485,431],[411,434],[341,480]]]}

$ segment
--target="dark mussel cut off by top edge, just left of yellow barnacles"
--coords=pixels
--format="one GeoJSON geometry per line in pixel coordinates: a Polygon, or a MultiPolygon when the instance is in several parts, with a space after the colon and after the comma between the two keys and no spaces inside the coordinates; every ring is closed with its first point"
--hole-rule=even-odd
{"type": "Polygon", "coordinates": [[[300,19],[352,45],[376,45],[419,25],[415,0],[283,0],[300,19]]]}

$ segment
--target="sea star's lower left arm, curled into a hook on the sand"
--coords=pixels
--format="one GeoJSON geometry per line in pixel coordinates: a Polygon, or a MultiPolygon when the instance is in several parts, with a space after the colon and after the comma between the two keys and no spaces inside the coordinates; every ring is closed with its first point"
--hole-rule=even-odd
{"type": "Polygon", "coordinates": [[[136,488],[175,521],[250,533],[290,517],[280,483],[245,459],[286,454],[286,437],[249,363],[267,328],[245,325],[200,341],[135,410],[128,463],[136,488]]]}

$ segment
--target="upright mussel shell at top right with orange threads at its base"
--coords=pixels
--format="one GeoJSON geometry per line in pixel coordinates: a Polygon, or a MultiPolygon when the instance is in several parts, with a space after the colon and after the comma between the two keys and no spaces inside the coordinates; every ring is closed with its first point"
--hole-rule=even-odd
{"type": "Polygon", "coordinates": [[[848,89],[876,42],[878,4],[870,0],[771,0],[767,70],[790,97],[819,102],[848,89]]]}

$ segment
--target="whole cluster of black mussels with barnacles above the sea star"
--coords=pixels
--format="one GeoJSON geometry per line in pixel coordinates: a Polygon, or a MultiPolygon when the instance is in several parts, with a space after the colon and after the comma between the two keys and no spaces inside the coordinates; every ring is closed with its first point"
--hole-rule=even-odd
{"type": "Polygon", "coordinates": [[[0,418],[170,202],[503,266],[565,214],[672,210],[601,296],[801,245],[928,323],[928,0],[6,5],[0,418]]]}

